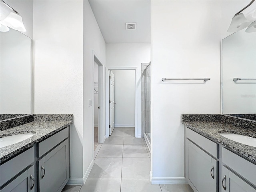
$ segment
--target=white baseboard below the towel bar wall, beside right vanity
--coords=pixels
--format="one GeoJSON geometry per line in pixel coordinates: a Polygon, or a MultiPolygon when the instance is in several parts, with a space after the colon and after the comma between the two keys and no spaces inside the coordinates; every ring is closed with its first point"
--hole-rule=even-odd
{"type": "Polygon", "coordinates": [[[150,172],[151,184],[187,184],[185,177],[152,177],[150,172]]]}

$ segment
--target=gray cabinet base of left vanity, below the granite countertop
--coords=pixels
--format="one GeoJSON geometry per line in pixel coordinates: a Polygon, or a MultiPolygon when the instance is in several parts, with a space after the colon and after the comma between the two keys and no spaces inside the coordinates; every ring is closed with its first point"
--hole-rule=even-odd
{"type": "Polygon", "coordinates": [[[61,192],[70,178],[69,127],[0,166],[0,192],[61,192]]]}

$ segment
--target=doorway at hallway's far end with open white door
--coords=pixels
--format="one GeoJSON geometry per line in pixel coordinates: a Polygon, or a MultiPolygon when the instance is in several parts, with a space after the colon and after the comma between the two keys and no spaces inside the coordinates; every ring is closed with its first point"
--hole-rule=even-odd
{"type": "Polygon", "coordinates": [[[106,77],[106,137],[120,128],[138,137],[137,68],[109,68],[106,77]]]}

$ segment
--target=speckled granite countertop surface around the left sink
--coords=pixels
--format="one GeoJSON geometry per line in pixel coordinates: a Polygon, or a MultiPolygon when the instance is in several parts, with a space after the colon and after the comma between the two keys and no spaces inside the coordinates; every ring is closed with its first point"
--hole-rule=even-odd
{"type": "Polygon", "coordinates": [[[40,142],[54,133],[63,130],[72,123],[71,121],[33,121],[6,130],[0,131],[0,137],[21,133],[34,133],[35,135],[6,147],[0,148],[0,164],[8,161],[13,156],[20,154],[37,142],[40,142]]]}

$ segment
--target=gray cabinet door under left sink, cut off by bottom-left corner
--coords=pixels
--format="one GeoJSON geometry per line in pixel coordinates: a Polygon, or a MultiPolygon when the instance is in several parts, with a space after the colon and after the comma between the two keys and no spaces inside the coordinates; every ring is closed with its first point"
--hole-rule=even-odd
{"type": "Polygon", "coordinates": [[[36,179],[34,178],[34,166],[32,166],[5,186],[1,192],[35,192],[35,188],[36,179]]]}

